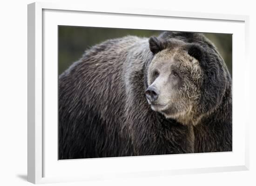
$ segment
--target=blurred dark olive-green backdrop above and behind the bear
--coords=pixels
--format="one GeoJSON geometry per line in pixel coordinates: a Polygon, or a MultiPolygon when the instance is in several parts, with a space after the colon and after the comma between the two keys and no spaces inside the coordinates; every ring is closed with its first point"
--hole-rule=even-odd
{"type": "MultiPolygon", "coordinates": [[[[58,73],[60,75],[71,64],[79,60],[84,51],[91,46],[107,39],[120,38],[127,35],[139,37],[158,36],[161,32],[153,30],[59,26],[58,73]]],[[[232,34],[204,33],[204,35],[217,47],[232,76],[232,34]]]]}

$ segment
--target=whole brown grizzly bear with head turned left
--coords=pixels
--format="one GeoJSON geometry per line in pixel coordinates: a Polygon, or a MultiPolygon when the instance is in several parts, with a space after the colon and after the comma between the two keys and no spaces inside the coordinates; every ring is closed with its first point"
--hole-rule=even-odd
{"type": "Polygon", "coordinates": [[[231,77],[199,33],[127,36],[59,77],[59,159],[232,150],[231,77]]]}

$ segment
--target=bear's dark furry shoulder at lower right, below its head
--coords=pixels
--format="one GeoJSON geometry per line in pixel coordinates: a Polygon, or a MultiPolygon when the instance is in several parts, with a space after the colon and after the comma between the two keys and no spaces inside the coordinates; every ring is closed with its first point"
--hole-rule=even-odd
{"type": "Polygon", "coordinates": [[[195,153],[232,151],[232,92],[226,90],[222,103],[194,125],[195,153]]]}

